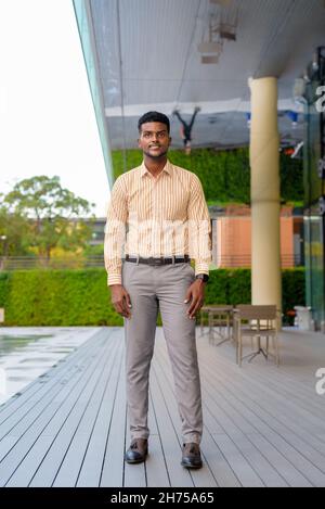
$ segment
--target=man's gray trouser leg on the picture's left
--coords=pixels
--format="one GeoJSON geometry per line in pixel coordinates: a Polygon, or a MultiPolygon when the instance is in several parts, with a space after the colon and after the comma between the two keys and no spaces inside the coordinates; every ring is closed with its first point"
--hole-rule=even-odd
{"type": "Polygon", "coordinates": [[[158,302],[152,267],[126,262],[122,282],[130,294],[131,318],[125,318],[127,402],[131,441],[147,438],[148,377],[154,352],[158,302]]]}

